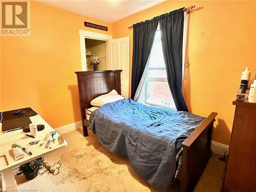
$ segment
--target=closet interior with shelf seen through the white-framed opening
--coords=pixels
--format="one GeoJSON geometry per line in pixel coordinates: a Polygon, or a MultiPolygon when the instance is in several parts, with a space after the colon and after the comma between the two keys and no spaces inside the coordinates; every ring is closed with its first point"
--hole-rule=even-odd
{"type": "Polygon", "coordinates": [[[85,41],[87,71],[106,70],[106,42],[89,38],[85,41]]]}

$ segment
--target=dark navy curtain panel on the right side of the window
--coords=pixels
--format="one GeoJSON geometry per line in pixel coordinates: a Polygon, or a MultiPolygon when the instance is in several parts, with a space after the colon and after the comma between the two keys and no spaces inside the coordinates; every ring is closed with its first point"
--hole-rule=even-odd
{"type": "Polygon", "coordinates": [[[159,19],[167,80],[178,111],[188,111],[181,91],[183,24],[183,8],[159,19]]]}

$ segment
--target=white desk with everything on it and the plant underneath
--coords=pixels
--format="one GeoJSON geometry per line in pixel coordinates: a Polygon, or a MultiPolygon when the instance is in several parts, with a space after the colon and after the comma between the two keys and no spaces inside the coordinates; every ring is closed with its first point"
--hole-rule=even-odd
{"type": "Polygon", "coordinates": [[[53,175],[59,173],[60,162],[51,164],[39,158],[67,146],[67,141],[51,125],[31,108],[0,112],[0,119],[0,172],[4,191],[18,188],[13,172],[16,167],[26,179],[48,171],[53,175]]]}

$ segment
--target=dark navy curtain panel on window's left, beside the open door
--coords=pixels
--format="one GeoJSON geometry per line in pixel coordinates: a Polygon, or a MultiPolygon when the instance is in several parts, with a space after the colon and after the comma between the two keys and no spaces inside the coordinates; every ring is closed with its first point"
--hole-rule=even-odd
{"type": "Polygon", "coordinates": [[[146,62],[150,56],[157,26],[157,18],[133,25],[132,99],[134,99],[146,62]]]}

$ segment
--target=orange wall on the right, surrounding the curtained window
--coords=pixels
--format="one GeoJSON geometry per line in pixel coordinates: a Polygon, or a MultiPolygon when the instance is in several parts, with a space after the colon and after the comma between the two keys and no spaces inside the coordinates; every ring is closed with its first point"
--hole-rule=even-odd
{"type": "MultiPolygon", "coordinates": [[[[181,7],[196,5],[190,14],[187,54],[190,67],[184,82],[189,111],[207,116],[218,112],[213,140],[229,144],[234,106],[243,67],[256,72],[256,2],[167,1],[112,24],[113,37],[130,37],[127,27],[181,7]]],[[[131,73],[130,73],[131,74],[131,73]]]]}

